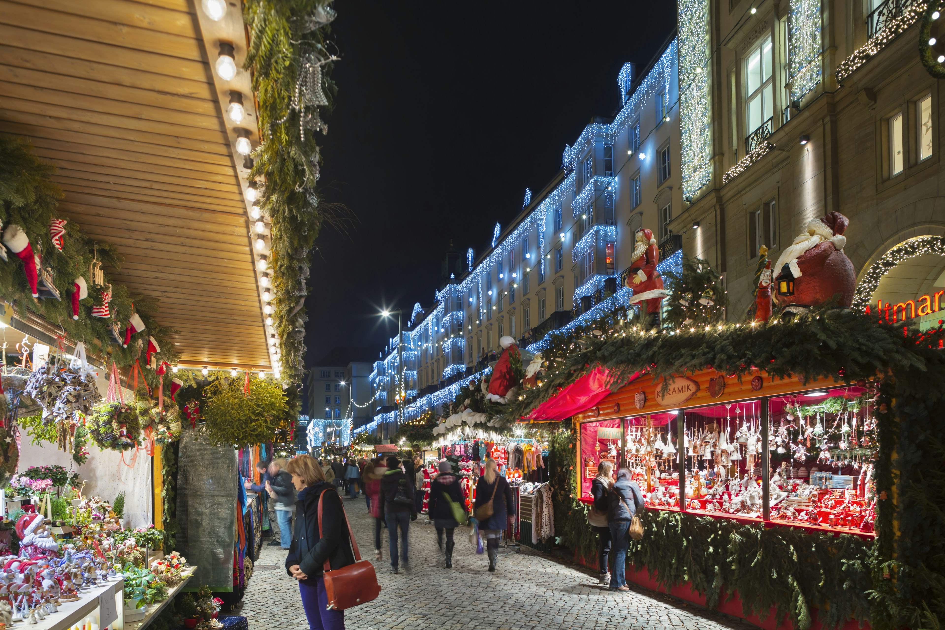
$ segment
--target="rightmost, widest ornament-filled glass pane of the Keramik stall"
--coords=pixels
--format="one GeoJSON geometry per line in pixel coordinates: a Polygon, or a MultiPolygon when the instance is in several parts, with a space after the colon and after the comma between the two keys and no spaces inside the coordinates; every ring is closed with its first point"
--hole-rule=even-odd
{"type": "Polygon", "coordinates": [[[874,400],[872,385],[769,400],[772,520],[873,531],[874,400]]]}

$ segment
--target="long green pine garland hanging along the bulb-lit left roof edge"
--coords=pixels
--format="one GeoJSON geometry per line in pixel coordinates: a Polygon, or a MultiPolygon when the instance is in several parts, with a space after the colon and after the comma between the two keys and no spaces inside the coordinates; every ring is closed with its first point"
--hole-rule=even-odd
{"type": "Polygon", "coordinates": [[[313,136],[327,129],[318,106],[305,103],[304,94],[299,103],[297,81],[307,61],[324,60],[318,66],[318,90],[334,93],[328,61],[335,58],[326,48],[323,23],[333,16],[324,0],[248,0],[244,13],[250,30],[245,67],[253,76],[264,141],[253,153],[252,177],[266,180],[260,207],[272,221],[273,326],[283,376],[297,381],[304,374],[305,280],[323,220],[316,188],[320,155],[313,136]]]}

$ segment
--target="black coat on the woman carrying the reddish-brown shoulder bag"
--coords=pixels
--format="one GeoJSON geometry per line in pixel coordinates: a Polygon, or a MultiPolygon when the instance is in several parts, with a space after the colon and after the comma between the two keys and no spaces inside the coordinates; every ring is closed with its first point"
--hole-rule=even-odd
{"type": "Polygon", "coordinates": [[[301,572],[309,578],[302,581],[315,586],[316,579],[324,572],[325,558],[328,558],[332,570],[354,564],[354,551],[341,497],[335,485],[320,483],[310,485],[299,493],[295,532],[285,558],[285,572],[291,576],[289,567],[299,565],[301,572]],[[322,490],[326,489],[322,498],[319,531],[318,499],[322,496],[322,490]]]}

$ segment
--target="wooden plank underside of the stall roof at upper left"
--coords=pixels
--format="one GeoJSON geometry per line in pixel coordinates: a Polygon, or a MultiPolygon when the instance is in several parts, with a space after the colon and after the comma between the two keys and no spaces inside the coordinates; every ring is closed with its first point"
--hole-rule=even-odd
{"type": "Polygon", "coordinates": [[[242,157],[198,5],[0,0],[0,133],[57,165],[60,211],[125,257],[115,281],[161,300],[181,365],[268,369],[242,157]]]}

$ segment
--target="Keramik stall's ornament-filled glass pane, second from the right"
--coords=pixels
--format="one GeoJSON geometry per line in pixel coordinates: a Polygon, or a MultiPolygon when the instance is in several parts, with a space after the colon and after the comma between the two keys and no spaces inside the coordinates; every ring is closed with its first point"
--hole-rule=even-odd
{"type": "Polygon", "coordinates": [[[762,519],[761,400],[689,409],[686,507],[762,519]]]}

